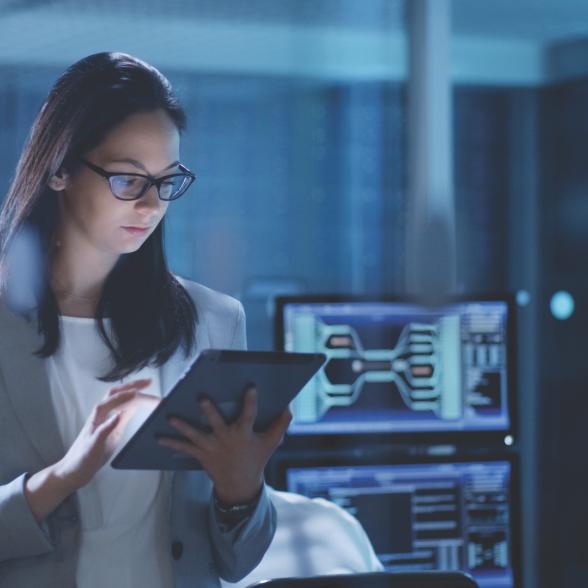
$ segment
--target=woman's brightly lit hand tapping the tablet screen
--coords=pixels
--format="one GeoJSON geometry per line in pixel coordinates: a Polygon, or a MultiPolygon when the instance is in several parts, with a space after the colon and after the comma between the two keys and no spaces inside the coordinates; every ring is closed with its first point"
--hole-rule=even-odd
{"type": "Polygon", "coordinates": [[[135,380],[111,388],[93,408],[68,452],[55,464],[58,476],[67,481],[71,492],[88,484],[110,459],[137,408],[159,404],[161,398],[141,393],[150,383],[150,379],[135,380]]]}

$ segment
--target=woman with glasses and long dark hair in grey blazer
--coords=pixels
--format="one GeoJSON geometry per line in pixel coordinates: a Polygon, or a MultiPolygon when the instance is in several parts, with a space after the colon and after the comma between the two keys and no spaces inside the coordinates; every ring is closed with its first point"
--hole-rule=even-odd
{"type": "Polygon", "coordinates": [[[246,347],[241,304],[166,266],[185,125],[123,53],[69,67],[34,121],[0,214],[2,588],[218,586],[271,541],[263,469],[291,415],[255,433],[255,390],[234,424],[204,401],[212,433],[160,441],[205,472],[108,465],[203,348],[246,347]]]}

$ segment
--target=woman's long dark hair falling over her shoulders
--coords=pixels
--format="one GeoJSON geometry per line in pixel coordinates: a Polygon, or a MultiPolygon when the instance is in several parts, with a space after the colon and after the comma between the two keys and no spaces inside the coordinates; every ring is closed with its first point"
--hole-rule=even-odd
{"type": "MultiPolygon", "coordinates": [[[[10,254],[19,236],[32,234],[40,265],[34,295],[38,357],[59,347],[59,308],[50,285],[50,260],[58,216],[57,194],[48,181],[60,169],[74,173],[78,158],[128,116],[163,109],[178,131],[186,115],[169,81],[153,66],[126,53],[89,55],[55,82],[27,137],[14,179],[0,211],[0,295],[12,281],[10,254]]],[[[100,335],[112,353],[113,369],[98,379],[113,382],[149,364],[162,365],[183,344],[186,355],[196,335],[196,307],[167,267],[163,219],[135,252],[122,254],[106,278],[97,305],[100,335]],[[109,317],[111,341],[103,319],[109,317]]],[[[14,247],[17,249],[17,247],[14,247]]],[[[21,312],[29,321],[34,312],[21,312]]]]}

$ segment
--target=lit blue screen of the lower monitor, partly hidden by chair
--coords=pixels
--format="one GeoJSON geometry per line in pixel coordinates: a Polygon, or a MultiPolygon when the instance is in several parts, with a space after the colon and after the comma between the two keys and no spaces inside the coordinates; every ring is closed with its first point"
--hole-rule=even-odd
{"type": "Polygon", "coordinates": [[[512,588],[511,462],[293,467],[287,488],[354,515],[388,571],[466,571],[512,588]]]}

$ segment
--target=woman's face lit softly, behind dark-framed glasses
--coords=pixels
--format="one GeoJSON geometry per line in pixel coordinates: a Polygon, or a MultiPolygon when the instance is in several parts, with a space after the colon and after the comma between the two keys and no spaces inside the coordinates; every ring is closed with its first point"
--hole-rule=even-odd
{"type": "MultiPolygon", "coordinates": [[[[144,112],[125,119],[84,158],[107,172],[161,177],[179,171],[179,143],[179,132],[165,111],[144,112]],[[124,159],[132,159],[135,164],[120,161],[124,159]]],[[[108,180],[83,164],[67,177],[60,194],[61,235],[71,243],[81,245],[81,239],[84,245],[115,255],[139,249],[169,205],[159,199],[156,186],[138,200],[119,200],[108,180]],[[124,227],[148,228],[137,233],[124,227]]]]}

